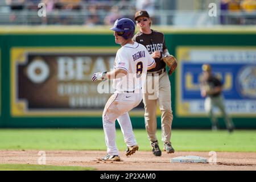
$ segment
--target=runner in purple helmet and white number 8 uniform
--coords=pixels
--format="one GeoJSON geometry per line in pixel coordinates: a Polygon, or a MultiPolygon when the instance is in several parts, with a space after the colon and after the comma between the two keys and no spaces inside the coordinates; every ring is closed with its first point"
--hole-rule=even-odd
{"type": "Polygon", "coordinates": [[[142,44],[131,40],[135,31],[133,20],[117,19],[111,30],[115,31],[115,43],[122,46],[115,56],[114,70],[94,73],[92,81],[114,79],[115,92],[106,103],[102,114],[108,150],[101,160],[120,161],[115,143],[115,120],[117,119],[127,144],[126,156],[134,154],[139,147],[134,137],[128,111],[142,101],[141,90],[146,81],[147,69],[155,67],[155,60],[142,44]]]}

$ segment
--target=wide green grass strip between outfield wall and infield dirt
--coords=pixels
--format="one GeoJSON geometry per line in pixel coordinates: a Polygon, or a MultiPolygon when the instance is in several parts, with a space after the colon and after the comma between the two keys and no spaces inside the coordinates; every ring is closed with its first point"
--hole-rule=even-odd
{"type": "MultiPolygon", "coordinates": [[[[134,130],[134,134],[140,150],[149,151],[146,131],[134,130]]],[[[176,151],[256,152],[255,130],[232,134],[226,130],[173,130],[171,141],[176,151]]],[[[121,130],[117,130],[117,146],[120,151],[126,149],[121,130]]],[[[0,129],[0,150],[106,150],[106,146],[103,129],[0,129]]]]}

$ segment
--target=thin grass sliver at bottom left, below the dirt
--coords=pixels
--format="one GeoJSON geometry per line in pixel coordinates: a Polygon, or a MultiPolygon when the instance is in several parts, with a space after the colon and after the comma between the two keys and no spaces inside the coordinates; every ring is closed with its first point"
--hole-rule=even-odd
{"type": "Polygon", "coordinates": [[[80,166],[48,166],[32,164],[0,164],[0,171],[92,171],[94,168],[80,166]]]}

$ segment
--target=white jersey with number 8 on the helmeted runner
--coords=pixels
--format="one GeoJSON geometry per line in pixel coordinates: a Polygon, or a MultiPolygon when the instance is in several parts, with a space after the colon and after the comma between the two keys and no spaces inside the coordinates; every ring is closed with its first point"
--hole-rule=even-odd
{"type": "Polygon", "coordinates": [[[114,69],[125,69],[127,75],[113,80],[113,88],[118,92],[133,92],[141,89],[146,81],[147,67],[155,60],[146,47],[134,42],[118,49],[115,56],[114,69]]]}

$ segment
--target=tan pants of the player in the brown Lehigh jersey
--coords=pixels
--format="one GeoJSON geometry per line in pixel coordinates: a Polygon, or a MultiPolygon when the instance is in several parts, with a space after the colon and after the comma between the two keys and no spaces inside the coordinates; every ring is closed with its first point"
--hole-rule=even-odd
{"type": "Polygon", "coordinates": [[[148,139],[152,142],[156,138],[156,106],[159,103],[161,110],[162,122],[162,141],[170,142],[171,140],[171,126],[172,126],[172,107],[171,107],[171,84],[167,72],[158,76],[147,76],[147,92],[143,94],[143,104],[145,109],[145,125],[148,134],[148,139]],[[158,84],[156,85],[156,82],[158,84]],[[148,87],[152,90],[148,90],[148,87]],[[154,97],[152,92],[154,91],[154,97]]]}

